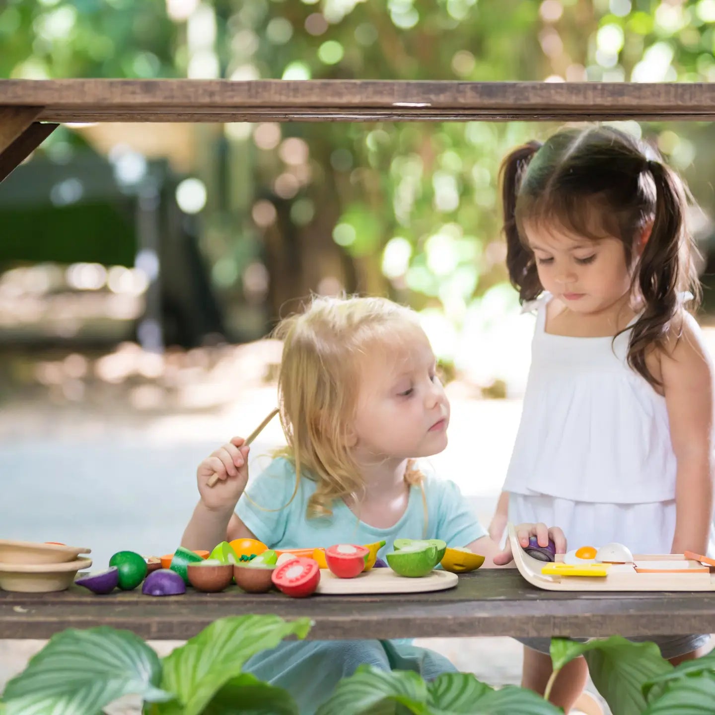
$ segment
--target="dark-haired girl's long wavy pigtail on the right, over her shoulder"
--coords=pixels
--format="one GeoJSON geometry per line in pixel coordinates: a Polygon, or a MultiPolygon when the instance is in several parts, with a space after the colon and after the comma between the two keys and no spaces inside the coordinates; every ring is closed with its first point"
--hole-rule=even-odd
{"type": "Polygon", "coordinates": [[[669,167],[649,161],[647,171],[656,187],[655,216],[651,235],[638,262],[634,280],[645,310],[631,332],[628,365],[651,385],[661,385],[646,365],[646,355],[655,346],[661,350],[671,330],[680,337],[681,323],[674,321],[681,310],[680,292],[689,290],[699,302],[700,285],[692,245],[685,225],[685,188],[669,167]]]}

